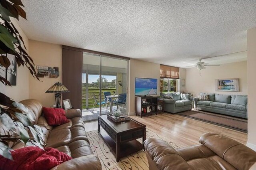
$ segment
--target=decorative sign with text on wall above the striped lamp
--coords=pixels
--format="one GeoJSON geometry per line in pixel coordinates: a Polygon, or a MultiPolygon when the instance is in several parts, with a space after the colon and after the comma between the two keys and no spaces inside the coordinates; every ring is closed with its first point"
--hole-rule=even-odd
{"type": "Polygon", "coordinates": [[[60,75],[59,67],[36,66],[38,77],[57,78],[60,75]]]}

